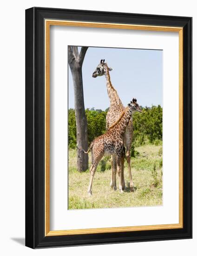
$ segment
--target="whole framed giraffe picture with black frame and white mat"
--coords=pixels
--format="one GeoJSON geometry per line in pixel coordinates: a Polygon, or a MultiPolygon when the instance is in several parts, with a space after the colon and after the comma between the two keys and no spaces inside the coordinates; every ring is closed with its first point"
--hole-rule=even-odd
{"type": "Polygon", "coordinates": [[[26,246],[192,237],[192,18],[26,10],[26,246]]]}

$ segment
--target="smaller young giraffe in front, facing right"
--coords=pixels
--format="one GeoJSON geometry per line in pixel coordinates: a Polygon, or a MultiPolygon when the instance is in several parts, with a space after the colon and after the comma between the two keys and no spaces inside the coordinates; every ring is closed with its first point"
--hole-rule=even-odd
{"type": "Polygon", "coordinates": [[[103,157],[103,155],[110,154],[113,155],[116,159],[117,171],[119,176],[119,190],[123,192],[124,186],[124,176],[123,176],[123,164],[124,164],[124,142],[123,142],[123,134],[125,132],[126,127],[128,126],[132,112],[141,111],[137,100],[133,99],[131,104],[128,104],[128,107],[125,108],[125,111],[119,116],[119,119],[108,129],[108,131],[95,138],[90,144],[90,148],[88,151],[84,151],[84,153],[88,153],[90,150],[92,151],[92,165],[90,167],[90,183],[88,187],[88,194],[92,195],[92,181],[97,169],[97,166],[103,157]]]}

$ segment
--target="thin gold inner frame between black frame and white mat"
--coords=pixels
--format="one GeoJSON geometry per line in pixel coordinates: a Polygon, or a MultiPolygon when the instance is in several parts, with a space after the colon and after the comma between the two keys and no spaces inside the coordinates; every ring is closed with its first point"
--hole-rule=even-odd
{"type": "Polygon", "coordinates": [[[45,20],[45,236],[183,228],[183,27],[145,26],[71,20],[45,20]],[[179,33],[179,223],[50,231],[50,26],[102,27],[179,33]]]}

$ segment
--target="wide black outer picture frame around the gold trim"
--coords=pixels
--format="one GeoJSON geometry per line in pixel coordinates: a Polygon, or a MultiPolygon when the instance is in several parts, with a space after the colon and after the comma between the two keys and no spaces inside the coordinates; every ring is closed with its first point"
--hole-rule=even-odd
{"type": "Polygon", "coordinates": [[[33,7],[26,10],[26,246],[48,248],[192,238],[192,18],[33,7]],[[45,19],[183,27],[182,229],[45,236],[45,19]]]}

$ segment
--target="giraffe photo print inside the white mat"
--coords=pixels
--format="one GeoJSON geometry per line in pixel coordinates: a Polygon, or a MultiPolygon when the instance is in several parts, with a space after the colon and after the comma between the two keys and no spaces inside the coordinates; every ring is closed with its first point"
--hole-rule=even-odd
{"type": "Polygon", "coordinates": [[[68,209],[163,205],[163,51],[68,46],[68,209]]]}

